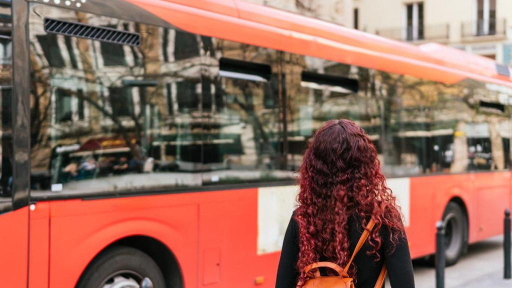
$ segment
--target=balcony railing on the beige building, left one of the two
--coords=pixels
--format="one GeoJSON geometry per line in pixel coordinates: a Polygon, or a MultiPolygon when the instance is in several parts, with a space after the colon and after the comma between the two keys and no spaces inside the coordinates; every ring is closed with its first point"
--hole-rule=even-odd
{"type": "Polygon", "coordinates": [[[376,31],[376,34],[402,41],[443,41],[448,40],[450,36],[450,26],[448,24],[407,26],[405,28],[380,29],[376,31]]]}

